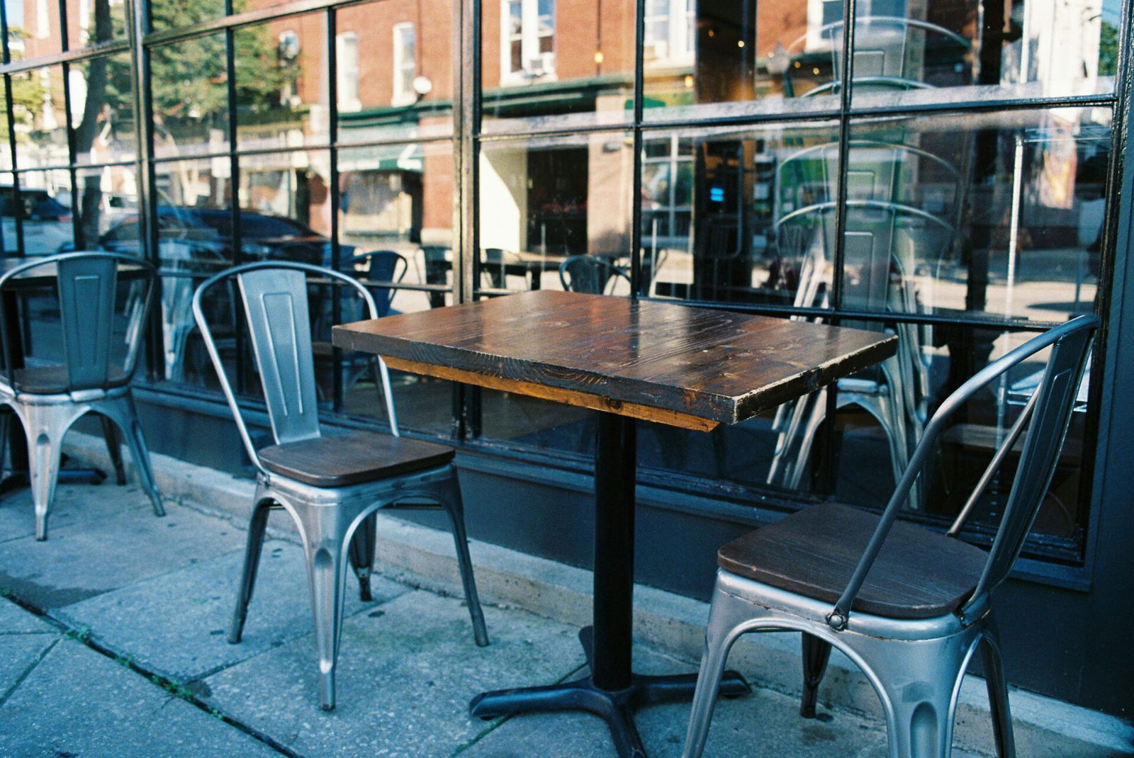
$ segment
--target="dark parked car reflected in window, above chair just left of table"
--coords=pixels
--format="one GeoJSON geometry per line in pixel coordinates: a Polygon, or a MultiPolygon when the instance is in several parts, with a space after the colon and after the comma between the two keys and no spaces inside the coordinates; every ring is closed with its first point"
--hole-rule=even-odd
{"type": "MultiPolygon", "coordinates": [[[[161,206],[158,230],[162,258],[227,263],[234,257],[232,216],[225,208],[161,206]]],[[[138,233],[138,218],[130,214],[111,227],[99,244],[111,250],[136,250],[138,233]]],[[[294,219],[240,211],[240,238],[246,259],[330,262],[330,240],[294,219]]],[[[342,246],[344,256],[353,252],[352,246],[342,246]]]]}

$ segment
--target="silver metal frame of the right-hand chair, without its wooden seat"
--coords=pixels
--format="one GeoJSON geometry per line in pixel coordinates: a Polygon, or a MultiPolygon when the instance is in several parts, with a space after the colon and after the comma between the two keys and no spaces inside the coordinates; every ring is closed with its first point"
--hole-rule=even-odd
{"type": "Polygon", "coordinates": [[[1080,316],[1033,338],[979,371],[941,403],[833,607],[829,602],[718,570],[705,651],[683,752],[685,758],[695,758],[704,749],[718,684],[733,642],[747,632],[785,630],[804,633],[805,706],[809,688],[813,702],[814,687],[822,676],[831,647],[837,647],[863,670],[882,702],[891,758],[943,758],[949,755],[960,682],[980,646],[997,753],[1000,758],[1015,756],[1007,679],[990,594],[1012,570],[1051,482],[1091,337],[1099,323],[1097,316],[1080,316]],[[1013,366],[1047,348],[1051,352],[1042,384],[993,454],[949,530],[949,535],[959,531],[1027,424],[1000,527],[968,598],[954,612],[932,619],[852,613],[855,597],[899,510],[907,502],[915,479],[946,431],[949,417],[1013,366]]]}

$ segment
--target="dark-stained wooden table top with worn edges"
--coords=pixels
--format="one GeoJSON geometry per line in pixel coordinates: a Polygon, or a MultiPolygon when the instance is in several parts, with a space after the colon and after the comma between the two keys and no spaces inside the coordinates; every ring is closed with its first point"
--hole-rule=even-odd
{"type": "Polygon", "coordinates": [[[391,368],[693,429],[743,421],[894,355],[897,338],[536,290],[333,327],[391,368]]]}

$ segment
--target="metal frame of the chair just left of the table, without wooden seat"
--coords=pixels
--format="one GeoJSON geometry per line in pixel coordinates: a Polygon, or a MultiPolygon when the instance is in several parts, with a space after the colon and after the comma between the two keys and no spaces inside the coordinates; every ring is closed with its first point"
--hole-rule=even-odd
{"type": "MultiPolygon", "coordinates": [[[[347,563],[354,567],[363,599],[370,599],[369,581],[376,543],[375,526],[379,509],[439,505],[448,513],[460,565],[462,584],[479,646],[488,645],[488,632],[473,579],[460,487],[456,468],[451,462],[362,484],[319,487],[269,471],[261,461],[212,339],[202,310],[202,298],[218,282],[236,278],[245,315],[248,316],[248,331],[255,359],[263,377],[262,384],[273,438],[277,444],[312,440],[322,434],[315,402],[311,322],[306,306],[306,274],[315,274],[354,288],[363,298],[370,317],[378,317],[374,298],[366,287],[354,278],[321,266],[278,261],[234,266],[208,279],[194,293],[193,313],[201,327],[205,348],[217,368],[221,390],[232,411],[240,440],[257,472],[247,548],[229,629],[229,642],[240,641],[248,602],[252,599],[256,580],[268,516],[271,510],[281,508],[295,521],[303,543],[315,622],[320,705],[323,709],[330,710],[335,707],[335,670],[342,629],[346,568],[347,563]],[[268,315],[272,301],[290,312],[289,323],[284,323],[288,320],[271,318],[268,315]],[[252,314],[248,313],[249,304],[257,306],[252,314]],[[290,330],[290,333],[280,330],[290,330]],[[274,350],[270,347],[284,349],[274,350]],[[417,499],[432,501],[437,505],[405,502],[417,499]]],[[[376,358],[376,364],[382,380],[390,433],[400,436],[390,390],[389,369],[381,358],[376,358]]]]}

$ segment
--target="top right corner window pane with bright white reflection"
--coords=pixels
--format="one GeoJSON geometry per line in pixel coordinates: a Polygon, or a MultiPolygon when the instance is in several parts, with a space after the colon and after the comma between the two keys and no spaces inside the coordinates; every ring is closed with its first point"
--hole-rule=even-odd
{"type": "MultiPolygon", "coordinates": [[[[841,7],[809,31],[798,60],[841,71],[841,7]]],[[[1058,97],[1114,92],[1120,5],[888,2],[858,6],[855,107],[896,102],[1058,97]],[[983,19],[983,24],[976,19],[983,19]],[[948,93],[937,92],[949,88],[948,93]]],[[[806,66],[806,63],[805,63],[806,66]]]]}

